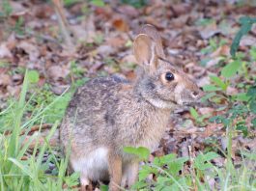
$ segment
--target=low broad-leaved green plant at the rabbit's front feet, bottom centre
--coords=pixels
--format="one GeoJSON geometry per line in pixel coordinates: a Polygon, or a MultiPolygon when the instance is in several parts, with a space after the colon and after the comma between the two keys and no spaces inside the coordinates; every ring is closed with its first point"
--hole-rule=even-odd
{"type": "Polygon", "coordinates": [[[176,154],[171,153],[155,157],[152,163],[147,161],[146,155],[149,155],[149,150],[145,148],[128,147],[125,151],[136,154],[144,161],[139,171],[139,179],[132,186],[132,190],[187,190],[194,186],[201,188],[200,190],[209,190],[208,182],[202,179],[217,175],[211,161],[219,155],[213,151],[200,153],[190,159],[188,157],[178,158],[176,154]],[[191,165],[187,171],[188,161],[191,165]],[[196,181],[193,183],[192,179],[196,181]]]}

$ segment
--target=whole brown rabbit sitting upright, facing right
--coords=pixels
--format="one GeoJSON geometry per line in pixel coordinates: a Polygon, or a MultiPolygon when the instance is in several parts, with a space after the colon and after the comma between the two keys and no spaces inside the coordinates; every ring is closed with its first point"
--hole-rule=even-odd
{"type": "Polygon", "coordinates": [[[80,172],[83,189],[91,180],[109,179],[112,191],[131,186],[138,159],[124,147],[155,150],[170,113],[201,96],[196,84],[166,60],[152,25],[142,28],[133,51],[140,67],[136,80],[92,79],[73,95],[61,125],[62,144],[71,148],[71,168],[80,172]]]}

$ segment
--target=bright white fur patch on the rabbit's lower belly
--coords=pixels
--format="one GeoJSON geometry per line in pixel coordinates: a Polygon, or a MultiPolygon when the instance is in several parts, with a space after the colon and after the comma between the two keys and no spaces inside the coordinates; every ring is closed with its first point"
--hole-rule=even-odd
{"type": "Polygon", "coordinates": [[[89,178],[90,180],[106,179],[108,174],[106,148],[93,150],[80,158],[71,158],[71,166],[74,171],[81,173],[81,181],[89,178]]]}

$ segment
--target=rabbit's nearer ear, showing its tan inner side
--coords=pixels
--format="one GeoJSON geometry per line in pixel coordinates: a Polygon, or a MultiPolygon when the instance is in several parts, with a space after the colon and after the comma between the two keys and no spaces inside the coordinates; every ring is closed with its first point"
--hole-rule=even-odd
{"type": "Polygon", "coordinates": [[[156,42],[149,36],[140,34],[135,38],[133,53],[139,65],[156,68],[156,42]]]}

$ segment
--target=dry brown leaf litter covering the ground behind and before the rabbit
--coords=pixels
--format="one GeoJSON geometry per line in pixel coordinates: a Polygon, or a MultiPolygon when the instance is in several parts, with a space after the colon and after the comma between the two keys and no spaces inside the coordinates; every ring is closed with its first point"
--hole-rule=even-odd
{"type": "MultiPolygon", "coordinates": [[[[210,84],[209,76],[221,72],[219,66],[223,57],[230,57],[229,47],[239,30],[239,17],[253,16],[256,12],[255,6],[246,3],[240,7],[236,3],[211,1],[193,5],[190,1],[172,3],[154,0],[140,9],[118,1],[106,4],[105,7],[78,2],[63,10],[70,27],[70,38],[74,43],[71,49],[67,48],[64,36],[60,33],[63,29],[60,28],[57,14],[50,3],[10,2],[13,12],[0,22],[3,29],[0,33],[1,109],[7,106],[4,103],[10,96],[18,96],[24,68],[38,70],[40,86],[49,84],[50,90],[56,95],[61,95],[71,83],[80,78],[114,73],[134,78],[136,65],[131,41],[142,23],[156,26],[167,49],[167,57],[172,63],[184,68],[200,86],[210,84]],[[220,40],[225,43],[220,44],[220,40]],[[75,66],[71,66],[72,61],[75,66]]],[[[245,55],[256,44],[255,29],[253,26],[249,35],[242,38],[240,50],[245,55]]],[[[253,67],[256,67],[255,62],[251,68],[253,67]]],[[[225,68],[229,69],[228,66],[225,68]]],[[[255,74],[253,69],[248,72],[255,74]]],[[[236,83],[236,80],[238,79],[231,79],[231,82],[236,83]]],[[[235,86],[229,86],[227,93],[236,95],[239,91],[235,86]]],[[[213,105],[198,108],[197,111],[200,116],[223,113],[216,111],[213,105]]],[[[215,145],[226,150],[223,125],[208,123],[208,117],[203,123],[205,124],[201,126],[196,122],[187,109],[177,111],[171,117],[159,148],[151,157],[171,152],[189,156],[189,148],[198,154],[199,150],[214,148],[215,145]]],[[[254,136],[244,138],[237,135],[233,138],[232,157],[235,163],[242,162],[240,150],[256,148],[256,132],[255,129],[250,130],[254,136]]],[[[223,166],[225,159],[220,157],[214,159],[213,163],[223,166]]],[[[211,179],[211,185],[214,181],[211,179]]]]}

